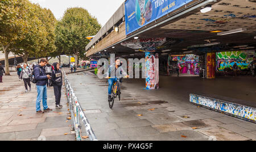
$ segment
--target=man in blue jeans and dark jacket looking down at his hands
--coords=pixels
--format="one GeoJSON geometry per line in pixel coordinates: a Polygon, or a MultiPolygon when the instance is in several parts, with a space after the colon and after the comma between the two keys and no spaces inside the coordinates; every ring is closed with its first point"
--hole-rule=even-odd
{"type": "Polygon", "coordinates": [[[40,60],[40,64],[35,65],[34,67],[34,75],[36,79],[36,90],[38,91],[38,96],[36,98],[36,113],[44,113],[46,111],[52,111],[52,109],[47,106],[47,87],[46,81],[50,79],[50,75],[46,75],[46,71],[44,70],[44,66],[47,64],[45,58],[40,60]],[[44,111],[41,110],[40,102],[43,100],[43,108],[44,111]]]}

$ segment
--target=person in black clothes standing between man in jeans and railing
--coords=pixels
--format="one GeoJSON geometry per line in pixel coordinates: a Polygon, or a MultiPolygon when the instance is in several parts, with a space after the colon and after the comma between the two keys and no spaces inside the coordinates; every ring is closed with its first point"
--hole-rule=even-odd
{"type": "Polygon", "coordinates": [[[60,70],[60,64],[59,63],[54,63],[53,64],[54,69],[52,70],[52,84],[53,84],[53,90],[54,90],[54,95],[55,95],[55,104],[56,104],[56,109],[60,109],[63,107],[63,105],[60,104],[60,98],[61,98],[61,87],[62,87],[62,73],[60,70]]]}

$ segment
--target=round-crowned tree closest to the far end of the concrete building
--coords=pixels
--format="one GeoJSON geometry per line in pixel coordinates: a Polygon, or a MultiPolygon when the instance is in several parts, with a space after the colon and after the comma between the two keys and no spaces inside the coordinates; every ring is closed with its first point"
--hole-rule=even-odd
{"type": "Polygon", "coordinates": [[[89,43],[85,37],[96,35],[100,29],[97,19],[87,10],[80,7],[67,9],[55,29],[57,50],[74,54],[77,65],[79,56],[85,53],[85,47],[89,43]]]}

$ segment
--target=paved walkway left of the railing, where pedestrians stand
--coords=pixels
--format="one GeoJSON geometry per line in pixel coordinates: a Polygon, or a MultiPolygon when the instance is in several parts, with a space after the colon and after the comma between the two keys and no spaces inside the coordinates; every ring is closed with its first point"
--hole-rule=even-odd
{"type": "Polygon", "coordinates": [[[75,140],[71,120],[67,121],[69,111],[64,88],[61,96],[63,109],[55,109],[55,96],[50,87],[47,104],[53,111],[37,114],[37,92],[35,84],[31,85],[31,92],[26,93],[24,83],[18,80],[16,73],[3,76],[3,83],[0,83],[0,140],[75,140]]]}

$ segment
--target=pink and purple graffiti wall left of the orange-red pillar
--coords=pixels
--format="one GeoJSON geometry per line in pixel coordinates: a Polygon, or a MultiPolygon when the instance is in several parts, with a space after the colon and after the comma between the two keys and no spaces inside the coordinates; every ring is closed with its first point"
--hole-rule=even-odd
{"type": "Polygon", "coordinates": [[[181,56],[171,56],[172,61],[177,61],[180,69],[180,74],[187,73],[199,75],[200,63],[199,56],[195,54],[186,54],[181,56]]]}

